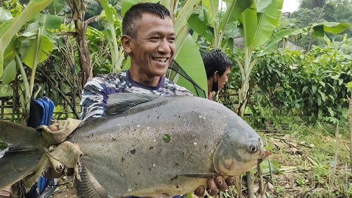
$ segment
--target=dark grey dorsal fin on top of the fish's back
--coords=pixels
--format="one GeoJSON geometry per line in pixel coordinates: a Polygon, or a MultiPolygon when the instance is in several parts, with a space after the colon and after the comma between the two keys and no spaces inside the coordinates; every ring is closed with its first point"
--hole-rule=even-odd
{"type": "Polygon", "coordinates": [[[146,93],[113,93],[108,97],[105,113],[107,115],[121,113],[136,105],[150,102],[158,97],[160,96],[146,93]]]}

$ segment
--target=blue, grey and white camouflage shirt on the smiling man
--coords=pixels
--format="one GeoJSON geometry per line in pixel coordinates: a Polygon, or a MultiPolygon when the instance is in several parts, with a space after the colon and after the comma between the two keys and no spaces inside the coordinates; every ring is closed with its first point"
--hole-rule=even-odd
{"type": "Polygon", "coordinates": [[[155,95],[189,95],[193,94],[184,87],[180,87],[162,76],[160,83],[155,86],[145,86],[134,82],[129,71],[105,74],[93,77],[83,88],[81,99],[81,120],[86,121],[104,115],[108,95],[121,92],[147,93],[155,95]]]}

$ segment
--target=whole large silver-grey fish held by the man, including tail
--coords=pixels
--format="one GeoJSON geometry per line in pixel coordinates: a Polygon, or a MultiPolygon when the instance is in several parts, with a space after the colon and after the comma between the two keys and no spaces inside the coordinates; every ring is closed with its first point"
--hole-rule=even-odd
{"type": "MultiPolygon", "coordinates": [[[[204,98],[119,93],[106,111],[67,138],[83,153],[80,197],[185,194],[270,154],[241,117],[204,98]]],[[[0,159],[1,190],[36,171],[50,144],[37,130],[7,122],[0,122],[0,139],[10,146],[0,159]]]]}

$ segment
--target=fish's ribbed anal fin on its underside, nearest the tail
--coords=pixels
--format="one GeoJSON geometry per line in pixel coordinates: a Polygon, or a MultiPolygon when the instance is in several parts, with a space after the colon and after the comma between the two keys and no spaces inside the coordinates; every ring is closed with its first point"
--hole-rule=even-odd
{"type": "Polygon", "coordinates": [[[105,188],[97,182],[90,171],[83,166],[80,172],[81,181],[77,180],[77,196],[80,198],[108,197],[105,188]]]}

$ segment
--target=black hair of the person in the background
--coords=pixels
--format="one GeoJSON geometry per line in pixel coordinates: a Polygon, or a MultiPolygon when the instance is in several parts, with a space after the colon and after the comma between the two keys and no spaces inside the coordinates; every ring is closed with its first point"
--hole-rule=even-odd
{"type": "Polygon", "coordinates": [[[205,53],[203,55],[203,63],[208,80],[214,72],[218,71],[218,75],[220,77],[225,73],[226,68],[232,67],[232,61],[220,49],[213,49],[205,53]]]}

